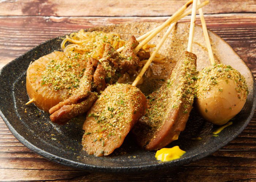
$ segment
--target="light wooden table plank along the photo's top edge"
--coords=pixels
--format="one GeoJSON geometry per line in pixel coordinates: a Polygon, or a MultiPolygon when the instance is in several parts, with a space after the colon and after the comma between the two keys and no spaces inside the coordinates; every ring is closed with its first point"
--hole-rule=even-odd
{"type": "MultiPolygon", "coordinates": [[[[187,0],[2,0],[0,16],[169,16],[187,0]]],[[[254,0],[211,0],[204,13],[256,12],[254,0]]]]}

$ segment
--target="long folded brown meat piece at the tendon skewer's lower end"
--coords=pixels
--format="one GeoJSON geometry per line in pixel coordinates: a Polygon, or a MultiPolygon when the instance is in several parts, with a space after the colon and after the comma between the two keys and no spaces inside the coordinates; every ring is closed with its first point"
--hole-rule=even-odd
{"type": "Polygon", "coordinates": [[[68,121],[68,118],[71,119],[71,116],[74,117],[82,114],[81,111],[86,112],[90,109],[88,106],[91,106],[93,103],[85,102],[86,99],[89,99],[91,102],[94,102],[97,99],[97,97],[94,96],[95,93],[91,92],[94,74],[93,62],[95,62],[93,58],[88,59],[86,70],[80,80],[79,89],[68,99],[50,108],[50,119],[53,122],[65,124],[68,121]],[[85,105],[82,107],[79,103],[84,103],[85,105]],[[74,104],[79,104],[79,107],[75,107],[74,104]],[[67,111],[70,111],[71,113],[67,113],[67,111]],[[65,119],[63,120],[63,118],[65,119]]]}

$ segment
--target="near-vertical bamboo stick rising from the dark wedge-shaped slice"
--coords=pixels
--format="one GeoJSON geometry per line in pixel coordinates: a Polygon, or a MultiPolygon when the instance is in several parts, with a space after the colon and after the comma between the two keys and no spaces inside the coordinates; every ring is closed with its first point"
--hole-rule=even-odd
{"type": "Polygon", "coordinates": [[[188,48],[187,48],[188,52],[192,52],[192,43],[193,43],[195,23],[196,23],[196,6],[197,6],[197,0],[194,0],[192,5],[192,13],[191,13],[191,20],[190,20],[190,27],[189,27],[188,48]]]}

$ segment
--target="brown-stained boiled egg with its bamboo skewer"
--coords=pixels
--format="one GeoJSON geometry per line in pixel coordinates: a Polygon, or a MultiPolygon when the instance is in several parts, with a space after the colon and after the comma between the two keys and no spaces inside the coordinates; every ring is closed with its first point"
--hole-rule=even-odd
{"type": "Polygon", "coordinates": [[[223,125],[244,107],[248,88],[240,72],[229,65],[215,63],[202,8],[199,9],[199,15],[211,66],[199,72],[196,106],[204,119],[223,125]]]}

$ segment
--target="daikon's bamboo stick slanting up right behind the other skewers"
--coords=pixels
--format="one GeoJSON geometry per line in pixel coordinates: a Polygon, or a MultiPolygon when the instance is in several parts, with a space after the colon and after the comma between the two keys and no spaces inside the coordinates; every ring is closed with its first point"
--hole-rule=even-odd
{"type": "MultiPolygon", "coordinates": [[[[207,4],[209,4],[209,1],[208,1],[208,0],[206,0],[206,1],[204,1],[203,3],[201,3],[200,5],[198,5],[196,9],[202,8],[202,7],[204,7],[204,6],[207,5],[207,4]]],[[[178,17],[176,17],[176,18],[173,20],[173,22],[176,22],[176,21],[178,21],[178,20],[184,18],[185,16],[191,14],[191,12],[192,12],[192,9],[189,9],[189,10],[183,12],[181,15],[179,15],[178,17]]],[[[152,29],[151,31],[145,33],[144,35],[138,37],[136,40],[137,40],[137,41],[142,41],[142,40],[146,39],[146,38],[148,37],[148,35],[150,35],[153,31],[155,31],[155,30],[156,30],[157,28],[159,28],[160,26],[161,26],[161,25],[159,25],[158,27],[156,27],[156,28],[152,29]]],[[[123,47],[120,47],[119,49],[117,49],[117,52],[121,52],[121,51],[123,51],[123,50],[124,50],[124,46],[123,46],[123,47]]]]}

